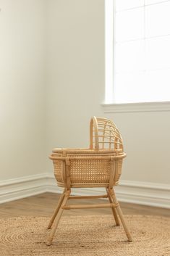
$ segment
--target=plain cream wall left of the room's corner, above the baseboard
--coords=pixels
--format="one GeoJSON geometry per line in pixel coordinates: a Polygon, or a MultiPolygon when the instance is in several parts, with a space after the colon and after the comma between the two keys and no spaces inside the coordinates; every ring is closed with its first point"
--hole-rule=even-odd
{"type": "Polygon", "coordinates": [[[45,1],[0,0],[0,180],[44,171],[45,1]]]}

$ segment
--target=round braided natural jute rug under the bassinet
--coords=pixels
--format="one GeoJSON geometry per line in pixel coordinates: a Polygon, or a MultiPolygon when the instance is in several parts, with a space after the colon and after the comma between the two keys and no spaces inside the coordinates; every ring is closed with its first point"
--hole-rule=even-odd
{"type": "Polygon", "coordinates": [[[49,218],[0,219],[1,256],[170,256],[170,218],[125,215],[133,241],[112,215],[62,217],[53,244],[49,218]]]}

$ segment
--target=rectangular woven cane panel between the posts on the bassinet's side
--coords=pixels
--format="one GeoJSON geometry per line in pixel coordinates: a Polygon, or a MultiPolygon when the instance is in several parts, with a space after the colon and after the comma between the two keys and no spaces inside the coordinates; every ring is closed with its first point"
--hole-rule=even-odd
{"type": "Polygon", "coordinates": [[[71,183],[109,183],[109,160],[70,160],[71,183]]]}

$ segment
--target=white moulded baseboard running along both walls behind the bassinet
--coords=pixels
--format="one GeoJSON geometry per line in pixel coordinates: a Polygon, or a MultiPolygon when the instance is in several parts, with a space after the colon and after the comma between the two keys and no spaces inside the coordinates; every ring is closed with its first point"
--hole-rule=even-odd
{"type": "MultiPolygon", "coordinates": [[[[48,173],[14,178],[0,181],[0,203],[9,202],[24,197],[30,197],[44,192],[61,193],[63,189],[56,186],[54,176],[48,173]]],[[[116,196],[120,202],[139,205],[170,208],[170,186],[162,183],[141,181],[121,181],[116,186],[116,196]]],[[[103,194],[105,189],[73,189],[73,194],[103,194]]]]}

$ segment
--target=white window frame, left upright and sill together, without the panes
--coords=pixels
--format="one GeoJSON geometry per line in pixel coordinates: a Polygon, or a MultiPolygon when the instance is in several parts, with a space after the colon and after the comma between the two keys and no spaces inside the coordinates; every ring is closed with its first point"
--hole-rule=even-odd
{"type": "Polygon", "coordinates": [[[133,103],[114,102],[115,4],[115,0],[105,0],[105,102],[101,104],[104,108],[104,112],[170,111],[170,101],[133,103]],[[107,15],[109,14],[109,19],[106,17],[106,12],[107,15]],[[112,22],[112,24],[109,25],[109,22],[112,22]],[[111,48],[109,49],[109,47],[111,48]],[[110,52],[111,57],[109,57],[110,52]]]}

